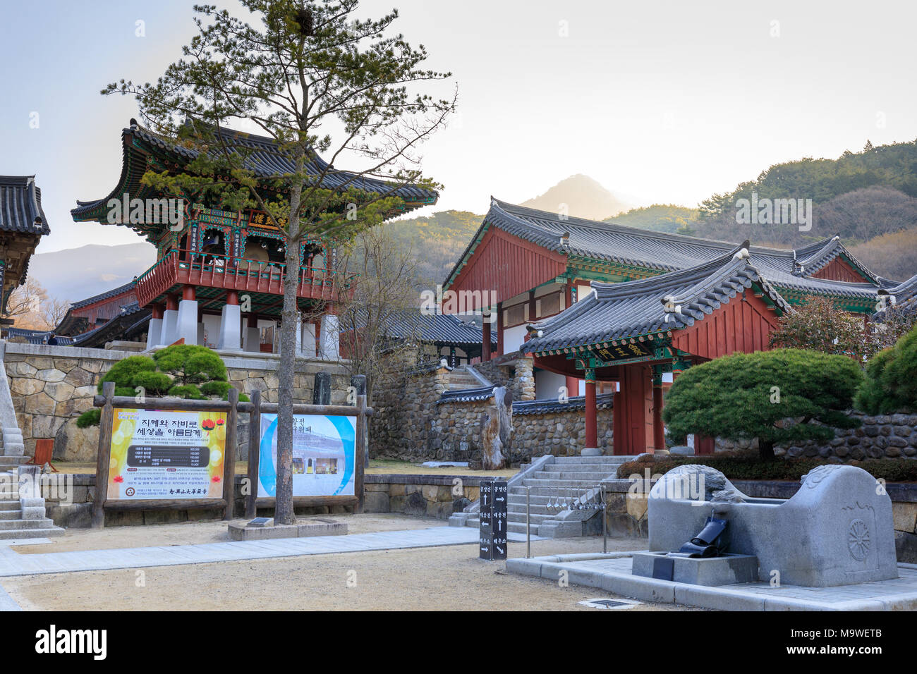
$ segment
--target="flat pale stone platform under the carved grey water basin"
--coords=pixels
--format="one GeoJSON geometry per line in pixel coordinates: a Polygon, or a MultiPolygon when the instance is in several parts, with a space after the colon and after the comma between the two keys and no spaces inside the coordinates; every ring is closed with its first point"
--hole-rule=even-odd
{"type": "MultiPolygon", "coordinates": [[[[640,550],[639,552],[648,552],[640,550]]],[[[569,583],[633,597],[647,602],[679,603],[722,611],[915,611],[917,564],[899,564],[899,578],[856,585],[807,588],[772,587],[748,582],[704,587],[635,576],[634,552],[607,555],[552,555],[506,560],[506,570],[557,582],[561,571],[569,583]]]]}

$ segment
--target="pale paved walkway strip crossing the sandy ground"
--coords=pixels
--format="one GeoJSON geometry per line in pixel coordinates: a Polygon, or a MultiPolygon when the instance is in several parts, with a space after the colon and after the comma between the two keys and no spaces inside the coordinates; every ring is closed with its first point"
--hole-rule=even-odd
{"type": "MultiPolygon", "coordinates": [[[[510,534],[509,540],[524,543],[525,535],[510,534]]],[[[541,538],[532,536],[532,540],[541,540],[541,538]]],[[[33,573],[168,567],[178,564],[329,555],[364,550],[457,546],[477,542],[477,529],[436,526],[429,529],[379,531],[349,536],[274,538],[272,540],[232,541],[188,546],[122,547],[108,550],[48,552],[35,555],[20,555],[9,547],[0,547],[0,577],[27,576],[33,573]]]]}

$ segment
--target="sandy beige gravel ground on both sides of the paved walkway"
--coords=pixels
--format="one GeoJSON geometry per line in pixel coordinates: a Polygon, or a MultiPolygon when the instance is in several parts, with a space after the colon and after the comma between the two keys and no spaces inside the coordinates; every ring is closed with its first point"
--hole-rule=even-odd
{"type": "MultiPolygon", "coordinates": [[[[338,515],[336,518],[348,523],[350,533],[443,524],[440,520],[403,515],[338,515]]],[[[31,548],[28,552],[35,553],[51,549],[178,545],[225,540],[225,537],[217,537],[225,534],[225,523],[218,526],[193,523],[116,527],[100,532],[68,533],[60,542],[52,544],[53,548],[42,545],[17,549],[26,552],[31,548]],[[222,530],[222,535],[217,529],[222,530]]],[[[632,538],[610,539],[609,549],[636,549],[641,547],[640,543],[632,538]]],[[[535,556],[601,549],[602,539],[595,536],[532,543],[535,556]]],[[[559,587],[555,582],[506,573],[503,562],[481,561],[477,553],[474,545],[425,547],[20,576],[2,582],[22,608],[57,611],[594,611],[578,602],[615,596],[594,588],[559,587]]],[[[525,543],[511,543],[510,555],[524,556],[525,543]]],[[[672,604],[642,603],[627,610],[688,609],[672,604]]]]}

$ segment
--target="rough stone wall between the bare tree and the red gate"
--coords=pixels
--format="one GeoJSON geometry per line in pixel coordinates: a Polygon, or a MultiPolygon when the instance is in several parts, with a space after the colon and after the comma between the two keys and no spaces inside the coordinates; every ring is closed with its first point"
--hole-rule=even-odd
{"type": "MultiPolygon", "coordinates": [[[[532,359],[502,357],[498,370],[511,369],[512,378],[503,384],[514,401],[535,398],[532,359]]],[[[370,456],[412,462],[430,460],[481,460],[481,418],[493,404],[492,398],[481,401],[440,403],[448,390],[449,370],[438,363],[409,366],[410,361],[395,364],[387,386],[377,385],[373,393],[375,414],[370,422],[370,456]]],[[[476,366],[477,367],[477,366],[476,366]]],[[[482,372],[483,373],[483,372],[482,372]]],[[[489,374],[484,373],[490,378],[489,374]]],[[[612,410],[598,411],[599,445],[612,453],[612,410]]],[[[514,414],[513,437],[503,453],[513,465],[533,456],[553,454],[573,456],[586,443],[586,420],[583,410],[547,414],[514,414]]]]}

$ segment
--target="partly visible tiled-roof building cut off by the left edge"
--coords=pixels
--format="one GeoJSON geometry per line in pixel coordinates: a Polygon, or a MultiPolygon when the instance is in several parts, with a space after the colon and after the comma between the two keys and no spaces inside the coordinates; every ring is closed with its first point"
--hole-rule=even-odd
{"type": "Polygon", "coordinates": [[[0,312],[17,286],[26,282],[28,260],[50,234],[34,175],[0,175],[0,312]]]}

